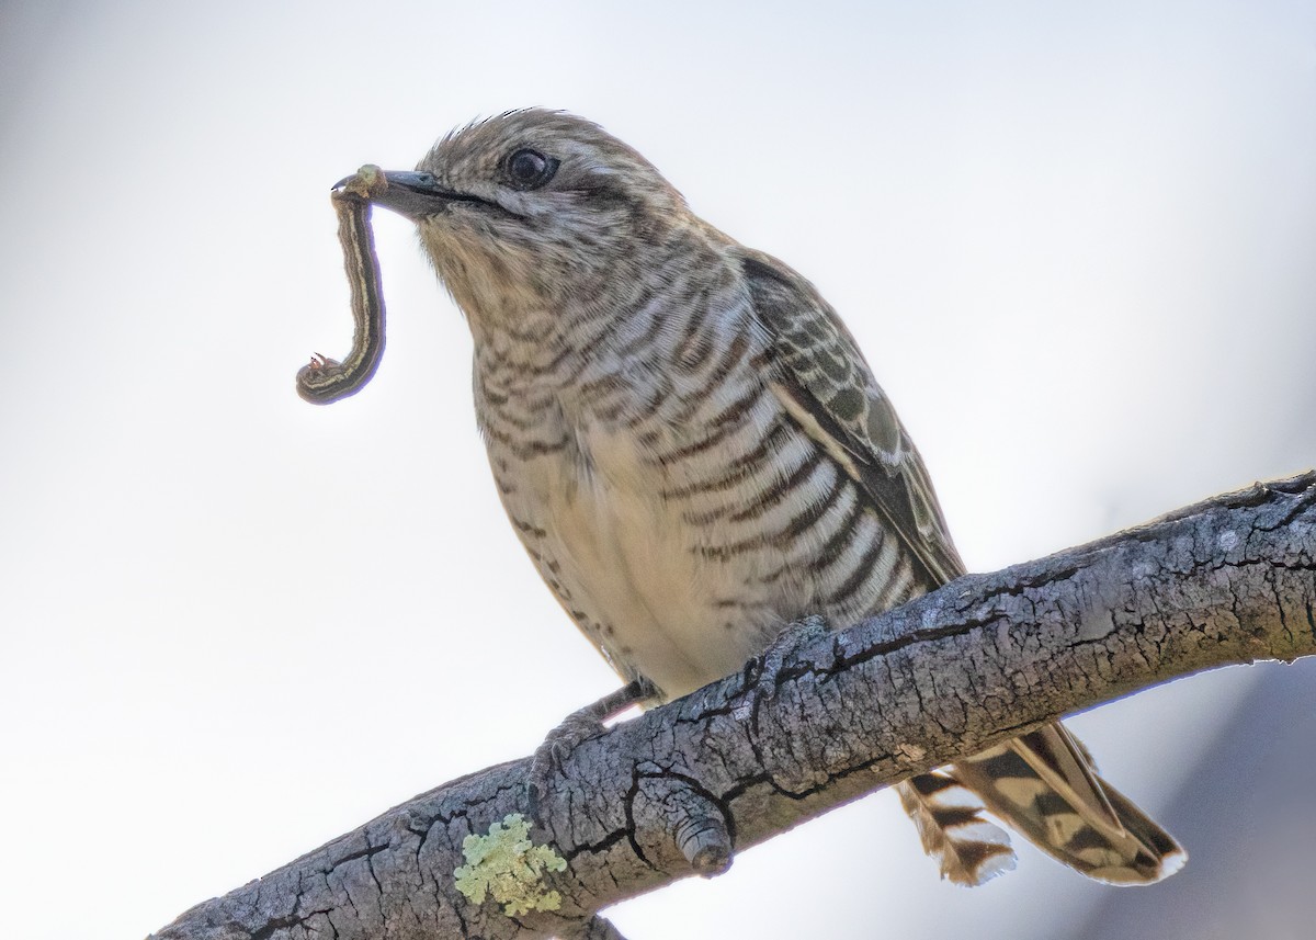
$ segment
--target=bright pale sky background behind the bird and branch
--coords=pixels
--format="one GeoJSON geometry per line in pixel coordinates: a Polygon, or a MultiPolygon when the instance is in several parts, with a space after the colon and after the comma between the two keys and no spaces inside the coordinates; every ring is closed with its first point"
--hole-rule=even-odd
{"type": "MultiPolygon", "coordinates": [[[[4,3],[8,936],[143,936],[616,686],[505,524],[409,224],[374,383],[292,386],[350,341],[332,183],[524,105],[819,284],[975,570],[1316,465],[1311,0],[4,3]]],[[[1155,814],[1277,669],[1073,727],[1155,814]]],[[[1111,898],[1020,854],[941,883],[879,794],[613,916],[1040,940],[1111,898]]]]}

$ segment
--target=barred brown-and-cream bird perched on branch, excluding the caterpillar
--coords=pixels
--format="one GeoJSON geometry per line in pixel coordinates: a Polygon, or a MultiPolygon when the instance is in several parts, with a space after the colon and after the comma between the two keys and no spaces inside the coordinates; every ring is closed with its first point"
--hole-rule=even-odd
{"type": "MultiPolygon", "coordinates": [[[[412,220],[474,338],[499,496],[645,704],[965,574],[928,470],[815,286],[705,222],[640,153],[526,108],[442,137],[375,204],[412,220]]],[[[983,808],[1115,885],[1182,866],[1059,723],[896,785],[944,878],[1015,866],[983,808]]]]}

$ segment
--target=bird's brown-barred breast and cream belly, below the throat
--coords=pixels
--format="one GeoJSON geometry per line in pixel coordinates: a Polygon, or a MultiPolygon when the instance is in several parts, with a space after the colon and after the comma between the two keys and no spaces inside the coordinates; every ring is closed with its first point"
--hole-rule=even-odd
{"type": "MultiPolygon", "coordinates": [[[[740,669],[794,619],[912,596],[913,563],[774,391],[733,265],[638,291],[588,344],[476,353],[503,504],[545,582],[626,678],[665,698],[740,669]]],[[[542,330],[545,336],[530,336],[542,330]]]]}

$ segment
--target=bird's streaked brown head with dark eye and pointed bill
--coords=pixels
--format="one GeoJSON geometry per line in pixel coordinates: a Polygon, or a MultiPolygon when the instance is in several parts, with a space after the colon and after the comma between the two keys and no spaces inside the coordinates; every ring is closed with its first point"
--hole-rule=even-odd
{"type": "Polygon", "coordinates": [[[686,217],[638,153],[562,112],[515,111],[450,133],[415,171],[386,172],[375,203],[416,222],[440,278],[474,321],[561,309],[645,266],[686,217]]]}

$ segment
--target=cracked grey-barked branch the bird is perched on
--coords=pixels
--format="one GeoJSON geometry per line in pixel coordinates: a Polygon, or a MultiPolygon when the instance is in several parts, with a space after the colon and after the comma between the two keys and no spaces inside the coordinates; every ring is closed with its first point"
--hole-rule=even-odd
{"type": "MultiPolygon", "coordinates": [[[[1258,483],[763,661],[586,741],[540,807],[555,914],[458,891],[462,840],[525,814],[530,760],[395,807],[207,901],[159,940],[616,936],[608,904],[1067,712],[1316,653],[1316,473],[1258,483]]],[[[530,695],[526,690],[526,695],[530,695]]],[[[930,877],[930,869],[929,869],[930,877]]]]}

